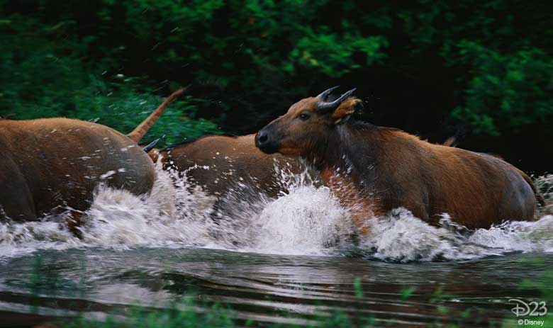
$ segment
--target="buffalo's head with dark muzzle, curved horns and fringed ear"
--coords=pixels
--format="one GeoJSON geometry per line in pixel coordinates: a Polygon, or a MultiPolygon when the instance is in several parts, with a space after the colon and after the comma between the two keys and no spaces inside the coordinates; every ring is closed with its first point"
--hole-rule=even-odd
{"type": "Polygon", "coordinates": [[[306,156],[309,149],[326,145],[328,137],[354,113],[358,98],[350,98],[355,89],[334,101],[328,101],[337,86],[316,97],[304,98],[288,112],[257,132],[255,145],[267,154],[279,152],[306,156]]]}

